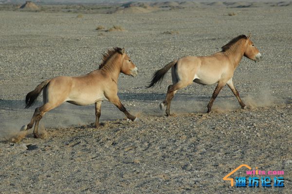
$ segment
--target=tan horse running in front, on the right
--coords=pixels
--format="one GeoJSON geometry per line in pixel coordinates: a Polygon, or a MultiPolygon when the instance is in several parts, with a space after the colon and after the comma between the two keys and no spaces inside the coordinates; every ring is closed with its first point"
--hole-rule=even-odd
{"type": "Polygon", "coordinates": [[[162,81],[166,72],[171,68],[173,85],[168,86],[166,98],[160,103],[161,109],[166,105],[166,116],[170,116],[170,102],[175,93],[179,89],[190,85],[192,82],[202,85],[218,83],[212,98],[208,103],[207,113],[211,111],[215,98],[226,84],[237,97],[241,108],[245,109],[246,106],[240,99],[238,91],[233,85],[232,78],[234,71],[243,56],[254,61],[259,61],[261,58],[261,54],[255,47],[254,43],[250,40],[250,37],[251,35],[248,37],[240,35],[224,45],[221,52],[215,53],[211,56],[188,56],[179,58],[168,63],[164,68],[156,71],[150,84],[147,86],[148,88],[154,86],[157,82],[162,81]]]}

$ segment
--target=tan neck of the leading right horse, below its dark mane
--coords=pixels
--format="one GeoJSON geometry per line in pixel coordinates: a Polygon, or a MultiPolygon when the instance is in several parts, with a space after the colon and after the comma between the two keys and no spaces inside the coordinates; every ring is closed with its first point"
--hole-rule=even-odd
{"type": "Polygon", "coordinates": [[[225,51],[225,54],[232,62],[234,69],[237,68],[241,58],[244,55],[244,51],[245,51],[245,42],[243,40],[241,40],[238,43],[235,43],[231,48],[225,51]]]}

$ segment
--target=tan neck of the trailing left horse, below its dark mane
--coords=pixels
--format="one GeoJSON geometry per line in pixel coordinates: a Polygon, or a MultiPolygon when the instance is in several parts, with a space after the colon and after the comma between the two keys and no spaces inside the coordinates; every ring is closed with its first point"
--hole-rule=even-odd
{"type": "Polygon", "coordinates": [[[118,56],[111,58],[102,68],[117,83],[121,72],[120,58],[118,56]]]}

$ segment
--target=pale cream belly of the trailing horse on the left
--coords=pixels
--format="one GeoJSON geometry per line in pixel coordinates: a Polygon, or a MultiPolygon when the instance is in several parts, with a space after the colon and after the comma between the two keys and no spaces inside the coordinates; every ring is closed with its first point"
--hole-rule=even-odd
{"type": "Polygon", "coordinates": [[[86,105],[90,105],[93,104],[95,102],[98,101],[104,101],[104,100],[108,100],[104,94],[100,94],[100,95],[81,95],[79,97],[70,97],[68,99],[66,99],[67,102],[71,103],[71,104],[75,104],[75,105],[81,105],[81,106],[86,106],[86,105]]]}

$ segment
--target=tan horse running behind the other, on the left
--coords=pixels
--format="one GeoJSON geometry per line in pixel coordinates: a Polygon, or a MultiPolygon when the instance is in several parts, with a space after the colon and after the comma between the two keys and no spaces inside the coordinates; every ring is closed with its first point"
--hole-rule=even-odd
{"type": "Polygon", "coordinates": [[[117,82],[120,72],[133,77],[138,75],[138,69],[125,53],[125,49],[114,48],[103,55],[103,62],[98,70],[79,77],[60,76],[41,82],[34,91],[26,95],[25,108],[33,105],[42,90],[44,104],[36,109],[31,122],[22,126],[21,130],[31,129],[35,123],[34,136],[39,137],[37,133],[39,120],[45,113],[65,101],[75,105],[95,103],[96,127],[99,126],[103,100],[109,100],[129,119],[137,121],[138,118],[128,113],[117,96],[117,82]]]}

